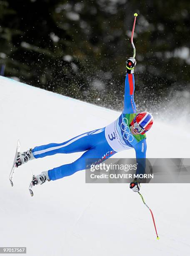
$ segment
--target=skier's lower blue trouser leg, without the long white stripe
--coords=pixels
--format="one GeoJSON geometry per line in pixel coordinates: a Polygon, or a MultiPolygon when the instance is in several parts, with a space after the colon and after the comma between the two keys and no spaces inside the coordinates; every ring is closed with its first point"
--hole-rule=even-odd
{"type": "Polygon", "coordinates": [[[109,158],[116,152],[109,146],[106,140],[98,143],[94,148],[90,148],[82,156],[71,164],[64,164],[60,167],[54,168],[48,171],[50,180],[61,179],[66,176],[70,176],[77,171],[84,170],[86,168],[86,159],[102,159],[109,158]]]}

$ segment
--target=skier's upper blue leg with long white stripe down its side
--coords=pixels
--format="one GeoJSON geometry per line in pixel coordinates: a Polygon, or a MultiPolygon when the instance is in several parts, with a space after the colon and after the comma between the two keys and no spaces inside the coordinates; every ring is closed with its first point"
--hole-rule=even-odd
{"type": "Polygon", "coordinates": [[[69,154],[86,151],[98,142],[97,134],[104,130],[105,128],[102,128],[82,133],[63,143],[50,143],[43,146],[37,146],[32,149],[32,154],[35,158],[41,158],[58,153],[69,154]]]}

